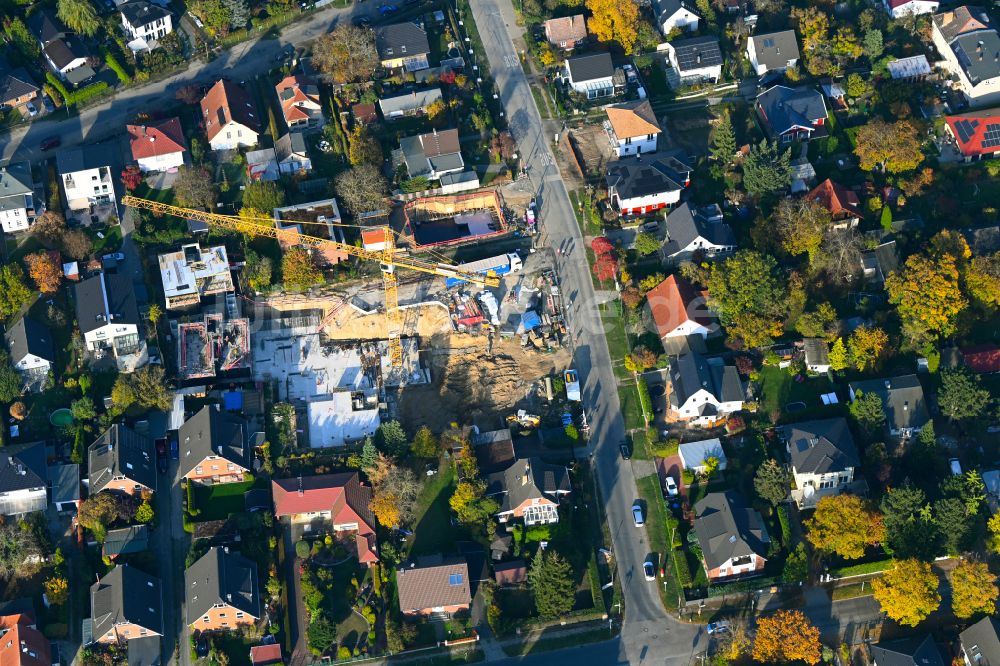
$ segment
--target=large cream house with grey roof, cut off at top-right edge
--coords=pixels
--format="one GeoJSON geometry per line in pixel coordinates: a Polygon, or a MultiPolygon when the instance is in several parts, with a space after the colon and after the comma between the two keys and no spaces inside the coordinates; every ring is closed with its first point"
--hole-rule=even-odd
{"type": "Polygon", "coordinates": [[[958,79],[969,104],[1000,102],[1000,35],[986,10],[963,5],[935,14],[931,23],[941,67],[958,79]]]}

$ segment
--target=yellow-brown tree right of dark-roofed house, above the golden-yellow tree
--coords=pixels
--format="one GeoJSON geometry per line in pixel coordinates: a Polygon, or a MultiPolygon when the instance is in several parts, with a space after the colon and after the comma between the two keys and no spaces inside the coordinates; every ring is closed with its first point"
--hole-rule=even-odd
{"type": "Polygon", "coordinates": [[[885,539],[882,516],[856,495],[829,495],[816,504],[805,522],[806,538],[814,548],[856,560],[865,548],[885,539]]]}

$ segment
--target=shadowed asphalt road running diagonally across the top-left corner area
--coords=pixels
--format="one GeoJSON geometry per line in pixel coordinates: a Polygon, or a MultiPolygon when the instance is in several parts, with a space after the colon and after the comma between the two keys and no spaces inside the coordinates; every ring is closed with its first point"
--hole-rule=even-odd
{"type": "Polygon", "coordinates": [[[136,113],[155,110],[164,101],[171,103],[178,88],[190,84],[211,85],[221,76],[236,80],[252,77],[276,63],[287,46],[301,46],[316,39],[344,18],[374,17],[377,13],[376,2],[359,2],[346,9],[325,7],[317,10],[287,26],[278,39],[257,39],[239,44],[208,63],[193,60],[187,70],[179,74],[123,90],[102,104],[84,109],[78,116],[65,120],[42,120],[0,136],[0,160],[33,161],[54,156],[55,151],[46,153],[38,147],[44,139],[52,136],[59,137],[62,147],[66,148],[84,141],[94,143],[120,135],[136,113]]]}

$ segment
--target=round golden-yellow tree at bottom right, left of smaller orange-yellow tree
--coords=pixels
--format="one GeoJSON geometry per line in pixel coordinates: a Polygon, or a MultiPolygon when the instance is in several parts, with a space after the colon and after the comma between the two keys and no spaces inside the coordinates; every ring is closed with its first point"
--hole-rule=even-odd
{"type": "Polygon", "coordinates": [[[938,579],[931,565],[917,559],[896,560],[872,581],[875,600],[899,624],[915,627],[941,605],[938,579]]]}

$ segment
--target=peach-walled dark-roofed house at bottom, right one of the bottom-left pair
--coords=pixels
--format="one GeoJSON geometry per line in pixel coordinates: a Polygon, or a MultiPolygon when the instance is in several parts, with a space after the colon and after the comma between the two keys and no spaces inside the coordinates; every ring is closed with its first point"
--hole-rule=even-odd
{"type": "Polygon", "coordinates": [[[212,546],[184,572],[184,610],[195,631],[231,631],[262,617],[257,563],[212,546]]]}

